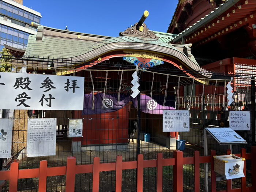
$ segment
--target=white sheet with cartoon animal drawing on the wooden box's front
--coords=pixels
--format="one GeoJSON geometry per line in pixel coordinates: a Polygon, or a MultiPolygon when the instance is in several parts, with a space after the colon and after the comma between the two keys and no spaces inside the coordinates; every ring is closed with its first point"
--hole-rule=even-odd
{"type": "Polygon", "coordinates": [[[227,179],[244,177],[244,161],[225,163],[225,176],[227,179]]]}

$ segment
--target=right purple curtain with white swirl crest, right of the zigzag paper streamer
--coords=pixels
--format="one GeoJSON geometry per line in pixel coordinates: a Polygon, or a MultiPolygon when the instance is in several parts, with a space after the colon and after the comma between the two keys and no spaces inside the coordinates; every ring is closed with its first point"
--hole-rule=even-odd
{"type": "MultiPolygon", "coordinates": [[[[132,105],[135,108],[138,108],[138,100],[137,97],[132,99],[132,105]]],[[[162,106],[157,103],[151,97],[141,94],[140,95],[140,110],[143,113],[150,113],[150,114],[163,114],[163,110],[175,110],[173,107],[162,106]]]]}

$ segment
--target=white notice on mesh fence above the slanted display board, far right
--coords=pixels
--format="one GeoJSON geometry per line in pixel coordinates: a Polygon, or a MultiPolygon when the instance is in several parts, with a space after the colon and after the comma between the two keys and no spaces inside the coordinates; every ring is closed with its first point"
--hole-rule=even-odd
{"type": "Polygon", "coordinates": [[[233,130],[250,130],[251,112],[249,111],[229,111],[229,127],[233,130]]]}

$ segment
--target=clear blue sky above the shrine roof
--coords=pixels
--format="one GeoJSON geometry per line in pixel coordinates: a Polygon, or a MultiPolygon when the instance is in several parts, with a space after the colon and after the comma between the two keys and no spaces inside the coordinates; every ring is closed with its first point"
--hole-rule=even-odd
{"type": "Polygon", "coordinates": [[[166,32],[178,0],[23,0],[41,13],[41,25],[116,37],[149,11],[150,30],[166,32]]]}

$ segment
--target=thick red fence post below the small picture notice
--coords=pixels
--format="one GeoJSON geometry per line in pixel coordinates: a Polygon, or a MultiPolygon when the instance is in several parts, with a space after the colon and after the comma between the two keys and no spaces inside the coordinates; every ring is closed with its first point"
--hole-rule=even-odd
{"type": "Polygon", "coordinates": [[[68,157],[66,170],[66,191],[75,191],[75,177],[76,177],[76,158],[68,157]]]}

